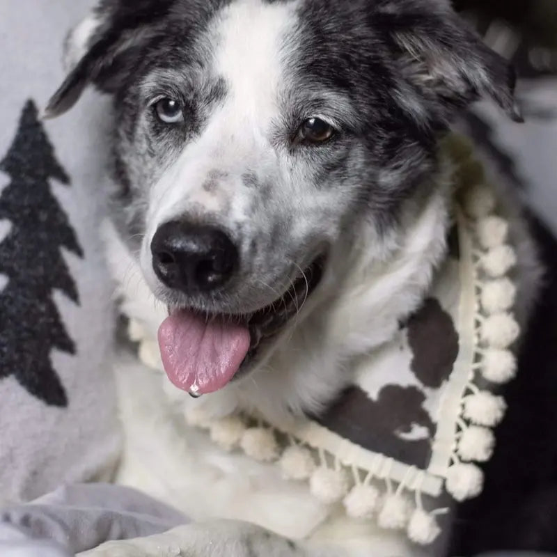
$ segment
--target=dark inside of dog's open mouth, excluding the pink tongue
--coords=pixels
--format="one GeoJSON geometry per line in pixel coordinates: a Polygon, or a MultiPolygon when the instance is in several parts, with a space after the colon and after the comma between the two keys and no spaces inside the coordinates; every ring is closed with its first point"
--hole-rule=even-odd
{"type": "MultiPolygon", "coordinates": [[[[277,297],[271,304],[267,304],[256,311],[249,313],[229,313],[218,311],[205,311],[191,306],[168,305],[168,314],[172,315],[185,311],[198,315],[198,318],[211,322],[217,320],[230,327],[238,327],[249,331],[249,348],[240,366],[230,379],[235,383],[249,375],[258,367],[265,354],[271,352],[281,338],[281,333],[297,318],[302,306],[315,292],[324,274],[327,262],[326,253],[317,256],[311,265],[292,282],[292,286],[277,297]]],[[[195,391],[190,391],[191,395],[195,391]]]]}

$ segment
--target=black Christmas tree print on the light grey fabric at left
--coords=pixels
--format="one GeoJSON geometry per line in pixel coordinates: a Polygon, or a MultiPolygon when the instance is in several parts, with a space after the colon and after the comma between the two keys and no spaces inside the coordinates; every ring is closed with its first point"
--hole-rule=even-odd
{"type": "Polygon", "coordinates": [[[61,290],[79,303],[61,247],[82,253],[49,185],[52,178],[65,185],[70,180],[54,157],[32,101],[23,109],[0,171],[10,178],[0,192],[0,221],[9,222],[0,243],[0,274],[8,279],[0,291],[0,379],[13,376],[47,405],[65,407],[68,398],[51,353],[74,354],[75,346],[52,294],[61,290]]]}

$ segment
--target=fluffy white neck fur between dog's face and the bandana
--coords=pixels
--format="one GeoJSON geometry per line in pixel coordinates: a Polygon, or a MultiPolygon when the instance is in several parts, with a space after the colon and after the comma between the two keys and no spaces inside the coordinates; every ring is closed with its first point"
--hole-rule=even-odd
{"type": "MultiPolygon", "coordinates": [[[[379,235],[372,223],[363,222],[354,237],[336,246],[320,288],[250,377],[191,402],[187,393],[169,386],[171,397],[201,404],[214,417],[245,409],[270,421],[319,411],[334,400],[351,382],[354,361],[393,338],[400,322],[418,308],[444,258],[453,181],[449,164],[441,166],[434,183],[425,185],[427,195],[406,201],[390,235],[379,235]]],[[[166,310],[162,304],[154,309],[116,229],[107,226],[105,235],[123,313],[156,338],[166,310]]]]}

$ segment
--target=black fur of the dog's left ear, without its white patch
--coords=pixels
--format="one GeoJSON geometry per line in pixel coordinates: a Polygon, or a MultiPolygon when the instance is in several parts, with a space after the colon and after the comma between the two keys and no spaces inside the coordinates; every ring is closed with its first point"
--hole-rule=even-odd
{"type": "Polygon", "coordinates": [[[113,92],[130,70],[134,49],[141,47],[168,13],[174,0],[106,0],[97,8],[104,24],[90,40],[88,52],[70,71],[43,113],[55,118],[68,111],[79,100],[88,84],[113,92]]]}

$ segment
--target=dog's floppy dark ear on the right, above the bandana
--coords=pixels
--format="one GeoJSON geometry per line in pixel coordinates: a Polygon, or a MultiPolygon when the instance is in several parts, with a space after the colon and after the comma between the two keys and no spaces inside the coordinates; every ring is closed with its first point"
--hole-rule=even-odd
{"type": "Polygon", "coordinates": [[[515,121],[512,65],[489,49],[480,37],[441,0],[407,0],[405,9],[379,2],[382,29],[402,54],[409,79],[436,95],[450,113],[480,97],[490,97],[515,121]]]}

